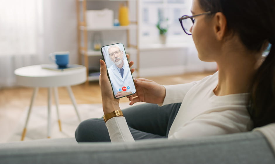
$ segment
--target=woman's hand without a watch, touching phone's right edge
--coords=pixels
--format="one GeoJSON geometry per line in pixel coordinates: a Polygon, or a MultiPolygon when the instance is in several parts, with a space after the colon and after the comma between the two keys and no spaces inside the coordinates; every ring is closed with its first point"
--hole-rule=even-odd
{"type": "Polygon", "coordinates": [[[163,103],[166,90],[162,85],[148,79],[135,79],[134,81],[136,93],[127,96],[130,105],[140,101],[154,104],[163,103]]]}

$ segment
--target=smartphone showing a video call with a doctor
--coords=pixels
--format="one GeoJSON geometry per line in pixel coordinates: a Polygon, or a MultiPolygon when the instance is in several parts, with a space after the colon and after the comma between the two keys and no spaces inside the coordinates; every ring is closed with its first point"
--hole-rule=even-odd
{"type": "Polygon", "coordinates": [[[124,45],[122,43],[105,45],[100,50],[107,66],[114,98],[135,94],[136,88],[124,45]]]}

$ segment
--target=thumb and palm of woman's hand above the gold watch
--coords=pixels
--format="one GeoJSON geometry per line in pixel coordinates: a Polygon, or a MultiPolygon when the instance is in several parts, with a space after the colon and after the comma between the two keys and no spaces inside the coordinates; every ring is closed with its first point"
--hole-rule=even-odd
{"type": "Polygon", "coordinates": [[[101,90],[102,107],[104,114],[120,110],[119,99],[114,98],[111,83],[107,75],[107,67],[103,60],[100,60],[99,86],[101,90]]]}

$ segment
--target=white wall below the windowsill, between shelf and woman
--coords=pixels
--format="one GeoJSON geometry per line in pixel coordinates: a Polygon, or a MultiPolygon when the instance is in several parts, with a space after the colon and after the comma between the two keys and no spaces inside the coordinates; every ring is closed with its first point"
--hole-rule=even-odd
{"type": "Polygon", "coordinates": [[[194,45],[140,53],[140,76],[178,75],[216,70],[216,63],[200,61],[194,45]]]}

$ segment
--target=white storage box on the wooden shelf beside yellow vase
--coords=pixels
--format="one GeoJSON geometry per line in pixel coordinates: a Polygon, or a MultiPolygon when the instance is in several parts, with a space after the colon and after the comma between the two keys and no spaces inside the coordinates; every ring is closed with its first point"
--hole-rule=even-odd
{"type": "Polygon", "coordinates": [[[113,27],[114,11],[104,10],[87,10],[86,22],[90,28],[113,27]]]}

